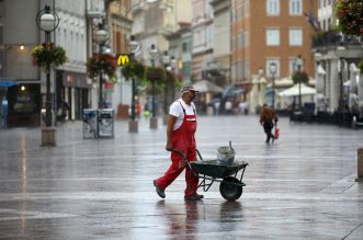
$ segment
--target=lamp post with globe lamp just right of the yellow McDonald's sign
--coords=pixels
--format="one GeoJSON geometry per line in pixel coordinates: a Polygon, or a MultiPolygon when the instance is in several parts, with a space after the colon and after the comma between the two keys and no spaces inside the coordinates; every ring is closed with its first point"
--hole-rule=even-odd
{"type": "MultiPolygon", "coordinates": [[[[135,39],[135,36],[131,36],[131,42],[128,43],[128,47],[132,54],[132,60],[135,60],[136,53],[140,49],[140,43],[135,39]]],[[[136,85],[135,85],[135,77],[132,78],[132,119],[128,123],[128,132],[137,133],[138,125],[136,121],[135,114],[135,95],[136,95],[136,85]]]]}

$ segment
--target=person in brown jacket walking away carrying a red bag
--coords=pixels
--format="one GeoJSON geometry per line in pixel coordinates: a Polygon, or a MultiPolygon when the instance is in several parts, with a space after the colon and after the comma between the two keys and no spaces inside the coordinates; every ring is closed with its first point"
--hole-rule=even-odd
{"type": "Polygon", "coordinates": [[[275,139],[275,136],[273,136],[272,128],[277,123],[279,117],[273,108],[268,106],[268,104],[263,104],[261,111],[260,111],[260,124],[263,126],[263,130],[266,135],[266,144],[270,144],[270,139],[272,139],[272,142],[275,139]]]}

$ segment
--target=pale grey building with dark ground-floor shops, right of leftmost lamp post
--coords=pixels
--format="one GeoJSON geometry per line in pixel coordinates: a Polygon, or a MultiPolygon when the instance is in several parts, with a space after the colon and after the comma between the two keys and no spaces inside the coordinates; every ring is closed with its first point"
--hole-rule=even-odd
{"type": "Polygon", "coordinates": [[[91,103],[92,81],[87,77],[87,2],[57,0],[54,3],[60,22],[54,42],[65,48],[68,61],[55,75],[55,108],[65,102],[68,119],[81,119],[82,110],[91,103]]]}

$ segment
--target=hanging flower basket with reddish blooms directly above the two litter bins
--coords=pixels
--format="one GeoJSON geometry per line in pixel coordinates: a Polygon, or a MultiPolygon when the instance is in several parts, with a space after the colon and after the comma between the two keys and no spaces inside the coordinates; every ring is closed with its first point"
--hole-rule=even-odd
{"type": "Polygon", "coordinates": [[[93,54],[86,66],[90,78],[95,78],[100,72],[103,72],[111,81],[116,82],[117,62],[114,56],[110,54],[93,54]]]}

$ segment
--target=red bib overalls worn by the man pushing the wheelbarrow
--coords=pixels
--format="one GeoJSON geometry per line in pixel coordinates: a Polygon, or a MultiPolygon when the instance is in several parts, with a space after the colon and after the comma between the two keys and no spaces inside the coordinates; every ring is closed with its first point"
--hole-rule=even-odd
{"type": "MultiPolygon", "coordinates": [[[[196,130],[196,114],[195,110],[193,115],[186,115],[185,108],[180,103],[184,112],[184,119],[182,125],[172,133],[172,147],[178,148],[186,156],[188,161],[192,162],[196,160],[196,145],[194,134],[196,130]]],[[[171,152],[171,165],[163,176],[157,179],[157,184],[161,190],[167,188],[178,175],[185,169],[185,182],[186,188],[185,196],[191,196],[196,193],[198,178],[193,175],[191,170],[185,168],[185,162],[182,157],[172,151],[171,152]]]]}

